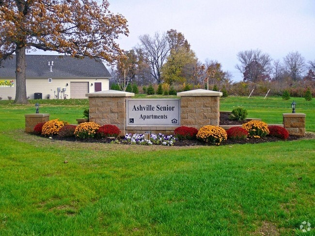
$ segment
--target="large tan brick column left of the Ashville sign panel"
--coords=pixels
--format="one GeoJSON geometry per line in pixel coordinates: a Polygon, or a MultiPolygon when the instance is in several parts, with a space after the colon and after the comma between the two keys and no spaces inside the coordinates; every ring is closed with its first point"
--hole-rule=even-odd
{"type": "Polygon", "coordinates": [[[126,99],[135,94],[116,90],[88,93],[89,121],[99,125],[116,125],[121,134],[126,133],[126,99]]]}

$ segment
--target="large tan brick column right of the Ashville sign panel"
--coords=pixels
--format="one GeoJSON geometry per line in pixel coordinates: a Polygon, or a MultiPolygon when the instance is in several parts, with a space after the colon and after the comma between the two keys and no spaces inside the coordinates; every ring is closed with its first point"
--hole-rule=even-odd
{"type": "Polygon", "coordinates": [[[200,129],[205,125],[219,126],[221,92],[196,89],[179,92],[181,97],[181,126],[200,129]]]}

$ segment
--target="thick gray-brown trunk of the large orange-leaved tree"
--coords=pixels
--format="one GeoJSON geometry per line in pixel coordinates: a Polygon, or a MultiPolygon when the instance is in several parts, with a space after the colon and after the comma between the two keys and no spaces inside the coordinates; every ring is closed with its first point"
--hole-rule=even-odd
{"type": "Polygon", "coordinates": [[[16,99],[17,104],[27,104],[25,47],[16,48],[16,99]]]}

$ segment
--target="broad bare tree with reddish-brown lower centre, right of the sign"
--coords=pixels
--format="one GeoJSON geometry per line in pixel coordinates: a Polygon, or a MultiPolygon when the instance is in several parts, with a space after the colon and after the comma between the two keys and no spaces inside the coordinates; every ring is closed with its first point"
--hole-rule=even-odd
{"type": "Polygon", "coordinates": [[[237,59],[240,64],[236,65],[236,69],[244,74],[244,81],[265,80],[271,73],[272,59],[267,53],[263,53],[259,49],[239,52],[237,59]]]}

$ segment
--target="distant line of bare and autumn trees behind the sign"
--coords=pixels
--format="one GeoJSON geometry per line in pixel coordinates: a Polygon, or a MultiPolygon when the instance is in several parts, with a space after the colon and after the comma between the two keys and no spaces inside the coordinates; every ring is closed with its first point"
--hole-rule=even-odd
{"type": "Polygon", "coordinates": [[[205,88],[231,95],[248,95],[252,89],[253,95],[266,94],[269,89],[270,95],[287,90],[291,96],[303,96],[307,88],[315,93],[315,60],[306,62],[299,52],[290,52],[280,61],[259,49],[241,51],[236,55],[236,69],[243,80],[233,83],[231,73],[223,71],[218,61],[199,61],[183,33],[175,29],[141,35],[139,40],[111,68],[111,84],[119,90],[132,84],[129,88],[137,85],[145,92],[142,88],[152,85],[157,92],[161,84],[172,91],[205,88]]]}

